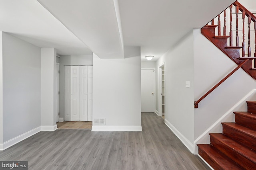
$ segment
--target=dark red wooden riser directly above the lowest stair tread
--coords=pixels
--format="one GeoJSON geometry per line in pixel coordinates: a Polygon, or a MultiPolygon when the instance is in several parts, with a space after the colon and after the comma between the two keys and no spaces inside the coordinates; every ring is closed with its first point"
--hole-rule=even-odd
{"type": "Polygon", "coordinates": [[[226,156],[231,158],[234,162],[242,166],[246,170],[252,170],[255,168],[255,163],[248,160],[243,155],[239,154],[236,150],[231,149],[218,139],[215,139],[211,136],[211,145],[216,147],[218,150],[220,150],[222,153],[224,153],[226,156]]]}

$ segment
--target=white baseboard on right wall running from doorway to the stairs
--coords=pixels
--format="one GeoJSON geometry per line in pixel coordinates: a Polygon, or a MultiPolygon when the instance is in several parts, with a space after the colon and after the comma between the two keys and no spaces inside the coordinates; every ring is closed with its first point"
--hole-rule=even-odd
{"type": "Polygon", "coordinates": [[[168,120],[165,119],[164,123],[180,139],[180,141],[182,141],[182,143],[188,148],[188,150],[193,153],[194,145],[186,137],[184,137],[168,120]]]}

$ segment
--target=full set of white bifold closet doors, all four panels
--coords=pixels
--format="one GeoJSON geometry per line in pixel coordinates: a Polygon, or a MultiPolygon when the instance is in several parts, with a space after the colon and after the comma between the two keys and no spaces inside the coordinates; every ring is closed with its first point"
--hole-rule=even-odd
{"type": "Polygon", "coordinates": [[[92,121],[92,66],[65,66],[64,120],[92,121]]]}

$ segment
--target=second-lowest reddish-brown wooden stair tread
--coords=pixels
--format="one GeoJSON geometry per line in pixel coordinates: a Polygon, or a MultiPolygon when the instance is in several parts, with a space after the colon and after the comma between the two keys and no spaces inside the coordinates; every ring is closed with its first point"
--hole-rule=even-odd
{"type": "Polygon", "coordinates": [[[211,137],[214,137],[224,145],[228,146],[230,149],[234,150],[235,152],[239,153],[240,155],[244,156],[248,160],[254,162],[256,164],[256,151],[237,143],[236,141],[232,140],[230,137],[222,133],[210,133],[211,137]]]}

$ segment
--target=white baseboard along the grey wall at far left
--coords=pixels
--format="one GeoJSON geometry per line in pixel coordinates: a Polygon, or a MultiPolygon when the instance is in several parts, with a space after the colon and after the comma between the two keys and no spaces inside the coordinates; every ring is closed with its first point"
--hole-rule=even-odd
{"type": "Polygon", "coordinates": [[[36,127],[35,129],[32,129],[31,131],[28,131],[26,133],[23,133],[22,135],[14,137],[14,138],[10,139],[9,141],[0,143],[0,150],[5,150],[5,149],[15,145],[16,143],[19,143],[20,141],[23,141],[24,139],[27,139],[28,137],[30,137],[40,131],[41,131],[41,127],[36,127]]]}

